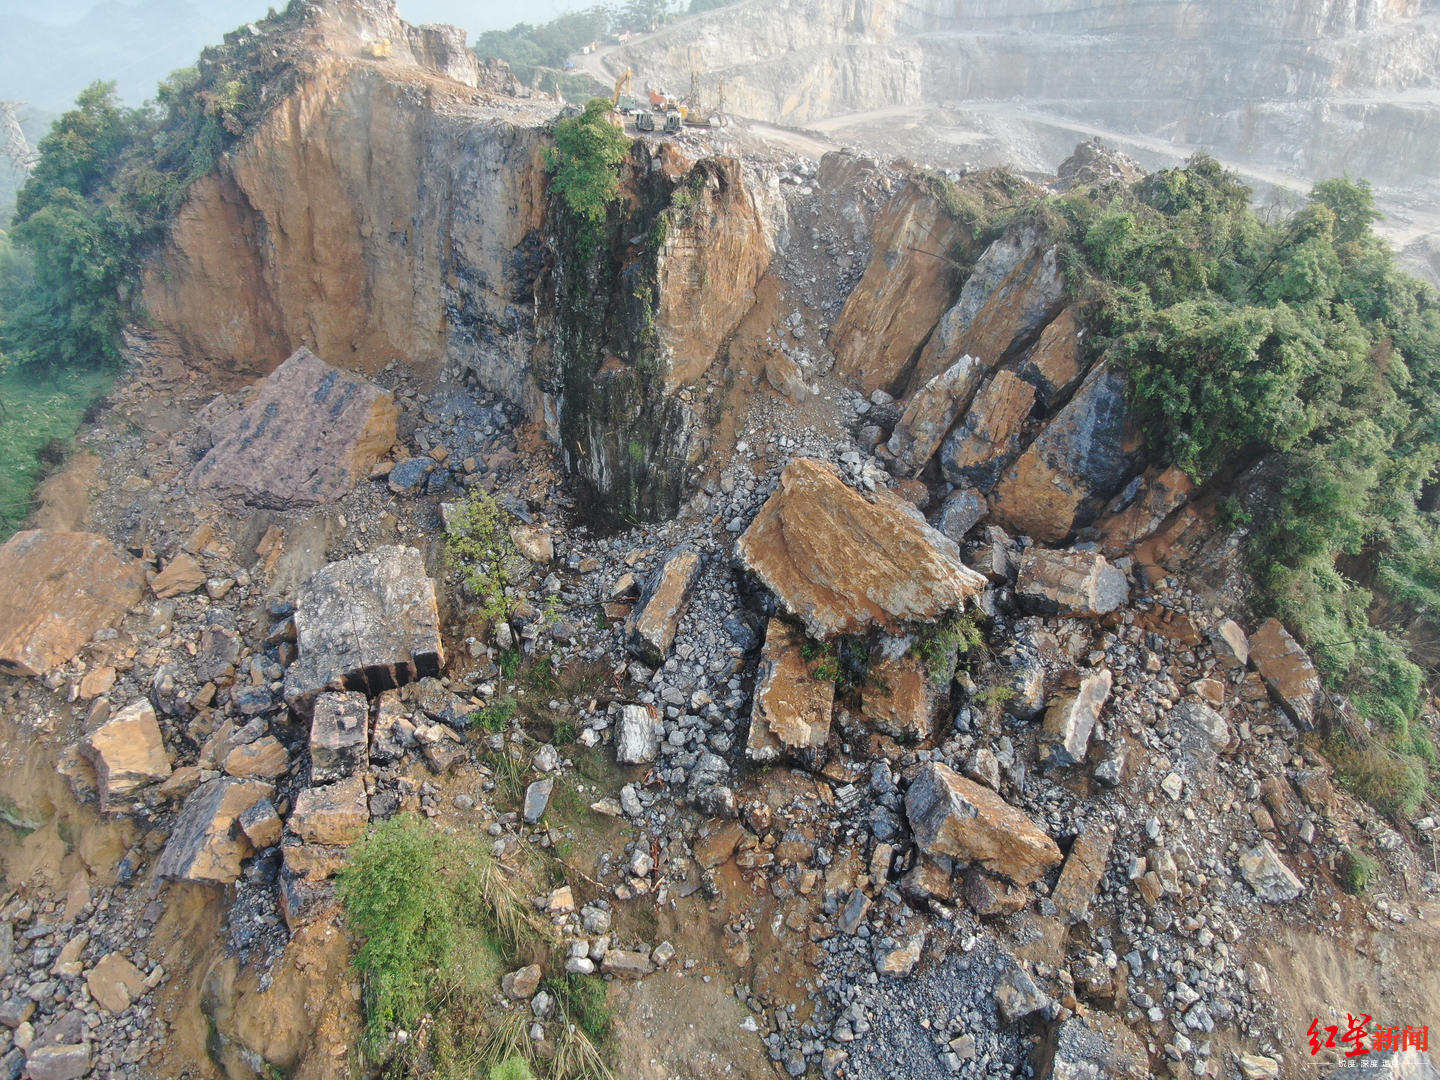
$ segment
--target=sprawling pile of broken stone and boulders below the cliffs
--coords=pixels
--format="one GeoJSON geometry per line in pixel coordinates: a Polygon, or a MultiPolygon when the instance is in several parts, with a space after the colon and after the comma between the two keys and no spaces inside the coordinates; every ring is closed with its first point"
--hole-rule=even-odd
{"type": "MultiPolygon", "coordinates": [[[[413,500],[429,484],[410,474],[449,456],[431,446],[377,471],[396,441],[393,400],[304,353],[216,412],[189,482],[252,505],[297,485],[315,503],[341,498],[374,477],[389,498],[413,500]],[[305,402],[325,406],[328,426],[305,402]],[[276,422],[279,408],[302,412],[276,422]],[[402,468],[415,459],[423,468],[402,468]]],[[[274,899],[279,917],[259,924],[278,948],[287,926],[328,910],[330,881],[372,819],[439,814],[439,788],[416,782],[415,766],[485,776],[467,727],[504,688],[500,648],[560,667],[606,661],[618,691],[549,704],[575,719],[582,746],[651,768],[593,805],[642,834],[608,861],[611,896],[539,899],[566,935],[567,971],[639,978],[671,963],[667,943],[618,948],[613,904],[716,896],[717,870],[733,863],[776,896],[812,901],[779,930],[821,946],[812,1017],[744,995],[793,1076],[874,1076],[894,1053],[914,1076],[1018,1068],[1037,1025],[1077,1070],[1125,1074],[1168,1056],[1201,1074],[1224,1024],[1254,1044],[1238,1061],[1246,1076],[1277,1074],[1267,973],[1233,946],[1263,924],[1261,904],[1333,916],[1315,876],[1344,847],[1398,847],[1297,749],[1320,703],[1303,651],[1277,622],[1247,636],[1094,546],[1051,550],[984,527],[958,530],[971,536],[962,552],[874,458],[822,442],[796,433],[801,452],[768,471],[732,467],[704,514],[642,536],[518,521],[528,585],[566,616],[521,603],[449,664],[413,547],[331,562],[292,596],[266,598],[282,531],[265,534],[249,567],[209,527],[158,564],[101,536],[22,533],[0,549],[14,612],[0,662],[37,681],[7,685],[6,706],[39,721],[46,696],[89,703],[65,769],[102,811],[147,829],[122,861],[117,912],[147,873],[251,887],[274,899]],[[612,616],[605,629],[569,615],[596,608],[612,616]],[[966,608],[991,624],[998,652],[984,672],[956,671],[952,657],[936,678],[913,639],[966,608]],[[808,642],[841,635],[870,642],[873,677],[837,701],[808,642]],[[981,675],[1004,691],[991,704],[981,675]],[[779,809],[757,799],[766,778],[753,770],[773,765],[798,770],[815,798],[779,809]],[[863,871],[837,877],[842,865],[863,871]],[[1018,959],[1028,919],[1057,920],[1068,945],[1018,959]],[[969,1004],[922,1035],[916,1007],[936,995],[969,1004]]],[[[485,740],[491,752],[523,744],[514,729],[485,740]]],[[[487,827],[501,857],[559,840],[544,819],[566,762],[541,746],[527,765],[523,808],[487,827]]],[[[485,793],[481,783],[455,806],[485,793]]],[[[32,943],[26,971],[0,984],[10,1067],[29,1054],[30,1074],[50,1080],[95,1061],[137,1074],[141,1057],[111,1047],[144,1022],[164,971],[144,955],[144,923],[124,936],[96,907],[4,909],[3,924],[32,943]],[[82,929],[96,924],[107,930],[82,929]],[[105,1035],[98,1051],[91,1030],[105,1035]]],[[[743,952],[753,929],[727,927],[727,940],[743,952]]],[[[553,1015],[540,975],[514,972],[503,988],[530,1008],[537,1037],[553,1015]]]]}

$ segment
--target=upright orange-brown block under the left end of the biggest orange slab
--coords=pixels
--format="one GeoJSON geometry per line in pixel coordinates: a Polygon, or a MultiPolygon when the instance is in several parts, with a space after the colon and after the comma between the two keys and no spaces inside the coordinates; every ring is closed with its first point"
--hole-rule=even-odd
{"type": "Polygon", "coordinates": [[[786,753],[819,750],[829,740],[835,683],[815,678],[804,655],[805,635],[783,619],[770,619],[756,670],[746,753],[775,762],[786,753]]]}

